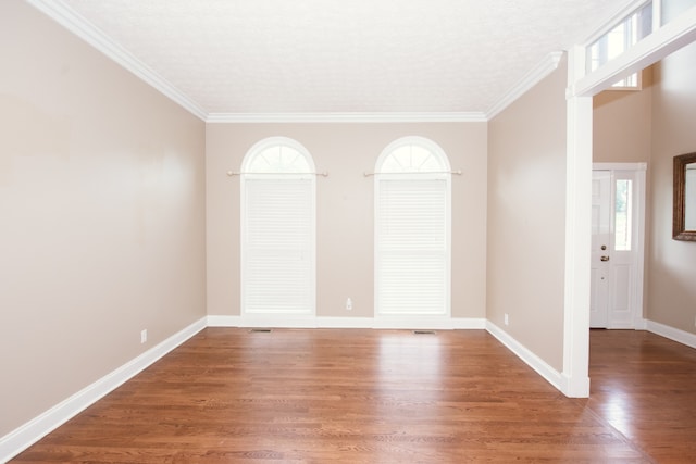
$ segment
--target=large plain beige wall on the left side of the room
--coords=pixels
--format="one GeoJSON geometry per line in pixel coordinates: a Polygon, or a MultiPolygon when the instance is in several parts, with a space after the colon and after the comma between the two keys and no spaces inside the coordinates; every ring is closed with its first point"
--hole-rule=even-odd
{"type": "Polygon", "coordinates": [[[2,437],[203,317],[206,268],[204,124],[21,1],[0,61],[2,437]]]}

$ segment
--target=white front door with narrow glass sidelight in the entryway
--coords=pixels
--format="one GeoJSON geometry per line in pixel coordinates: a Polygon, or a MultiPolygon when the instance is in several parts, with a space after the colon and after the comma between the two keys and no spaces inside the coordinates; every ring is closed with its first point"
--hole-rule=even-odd
{"type": "Polygon", "coordinates": [[[593,171],[589,326],[636,328],[643,317],[645,165],[593,171]]]}

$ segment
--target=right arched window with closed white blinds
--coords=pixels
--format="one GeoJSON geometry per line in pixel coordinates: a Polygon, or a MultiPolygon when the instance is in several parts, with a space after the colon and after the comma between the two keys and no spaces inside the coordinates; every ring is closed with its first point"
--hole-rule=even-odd
{"type": "Polygon", "coordinates": [[[375,166],[376,314],[450,314],[450,166],[435,142],[390,143],[375,166]]]}

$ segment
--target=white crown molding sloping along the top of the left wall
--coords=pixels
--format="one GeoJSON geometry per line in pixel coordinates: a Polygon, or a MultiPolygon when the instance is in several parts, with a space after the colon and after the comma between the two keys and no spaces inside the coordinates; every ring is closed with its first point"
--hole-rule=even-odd
{"type": "Polygon", "coordinates": [[[135,58],[133,53],[121,47],[107,36],[101,29],[94,26],[83,16],[74,12],[60,0],[26,0],[48,15],[51,20],[75,34],[80,39],[105,54],[121,66],[135,74],[150,86],[154,87],[165,97],[189,111],[195,116],[206,120],[208,113],[188,96],[170,84],[145,63],[135,58]]]}

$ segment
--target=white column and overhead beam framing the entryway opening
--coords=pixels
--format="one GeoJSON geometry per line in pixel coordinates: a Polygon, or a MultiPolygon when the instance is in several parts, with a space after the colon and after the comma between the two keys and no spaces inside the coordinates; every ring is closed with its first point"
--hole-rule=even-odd
{"type": "Polygon", "coordinates": [[[567,89],[566,274],[561,391],[589,396],[589,239],[592,210],[592,97],[696,40],[696,7],[655,30],[594,73],[585,47],[571,47],[567,89]]]}

